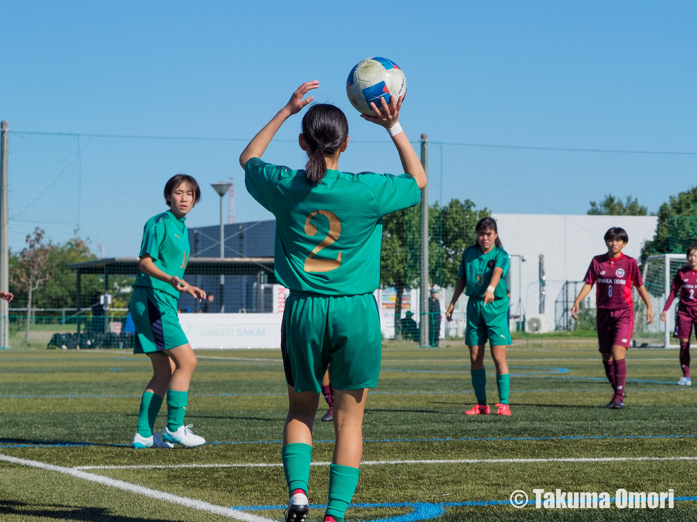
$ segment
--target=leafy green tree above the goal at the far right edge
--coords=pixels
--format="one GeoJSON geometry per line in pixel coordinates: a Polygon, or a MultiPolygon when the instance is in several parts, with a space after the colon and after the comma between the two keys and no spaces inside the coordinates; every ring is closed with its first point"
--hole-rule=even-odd
{"type": "Polygon", "coordinates": [[[641,260],[652,254],[684,252],[697,243],[697,187],[671,196],[658,211],[658,223],[653,240],[641,250],[641,260]]]}

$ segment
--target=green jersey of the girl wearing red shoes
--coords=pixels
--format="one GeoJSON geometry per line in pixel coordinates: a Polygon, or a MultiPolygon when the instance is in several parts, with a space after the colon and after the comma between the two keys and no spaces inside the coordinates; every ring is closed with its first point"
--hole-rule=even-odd
{"type": "Polygon", "coordinates": [[[495,299],[506,297],[506,274],[508,273],[508,252],[501,247],[493,247],[489,254],[483,254],[479,245],[474,245],[462,252],[462,261],[457,270],[457,277],[465,279],[467,287],[465,295],[473,298],[483,298],[487,286],[491,283],[494,268],[503,268],[501,279],[493,291],[495,299]]]}

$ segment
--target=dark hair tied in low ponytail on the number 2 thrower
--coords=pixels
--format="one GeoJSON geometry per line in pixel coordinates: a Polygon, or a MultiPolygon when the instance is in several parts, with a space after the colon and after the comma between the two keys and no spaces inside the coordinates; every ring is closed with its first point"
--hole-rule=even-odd
{"type": "Polygon", "coordinates": [[[328,103],[312,105],[302,117],[302,137],[309,147],[305,176],[312,183],[319,183],[327,174],[324,156],[335,155],[348,137],[346,115],[328,103]]]}

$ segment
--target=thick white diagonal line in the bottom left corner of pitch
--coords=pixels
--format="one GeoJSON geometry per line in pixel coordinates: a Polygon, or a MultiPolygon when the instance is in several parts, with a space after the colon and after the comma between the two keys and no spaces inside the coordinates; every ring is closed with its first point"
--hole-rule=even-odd
{"type": "Polygon", "coordinates": [[[14,456],[8,456],[3,454],[0,454],[0,461],[20,464],[20,466],[30,466],[31,468],[40,468],[43,470],[64,473],[65,475],[71,475],[72,477],[77,477],[79,479],[89,480],[90,482],[97,482],[98,484],[102,484],[103,486],[110,486],[112,488],[128,491],[129,493],[137,493],[146,497],[156,498],[157,500],[164,500],[166,502],[172,502],[173,504],[192,507],[194,509],[199,509],[200,511],[206,511],[209,513],[228,516],[231,519],[236,519],[243,522],[274,522],[271,519],[264,518],[263,516],[245,513],[243,511],[240,511],[239,509],[231,509],[229,507],[217,506],[215,504],[209,504],[208,502],[204,502],[203,500],[195,500],[194,498],[180,497],[177,495],[172,495],[171,493],[164,493],[164,491],[158,491],[156,489],[146,488],[137,484],[131,484],[130,482],[124,482],[123,480],[116,480],[110,477],[105,477],[103,475],[95,475],[94,473],[86,473],[75,468],[65,468],[63,466],[55,466],[54,464],[48,464],[45,462],[17,459],[14,456]]]}

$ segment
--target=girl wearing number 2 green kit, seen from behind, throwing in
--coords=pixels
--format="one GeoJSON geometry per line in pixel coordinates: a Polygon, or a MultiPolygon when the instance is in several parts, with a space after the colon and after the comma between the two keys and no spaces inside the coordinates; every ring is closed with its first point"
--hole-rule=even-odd
{"type": "Polygon", "coordinates": [[[382,217],[413,206],[426,174],[399,126],[401,98],[372,104],[362,116],[388,129],[407,174],[339,171],[348,123],[334,105],[314,105],[302,118],[304,170],[259,158],[280,128],[302,110],[319,82],[302,84],[240,155],[252,197],[276,216],[275,276],[290,289],[281,330],[289,409],[282,459],[288,484],[286,521],[307,516],[312,424],[329,367],[335,390],[336,445],[329,470],[325,521],[342,522],[358,484],[367,389],[378,384],[381,332],[373,297],[380,280],[382,217]]]}

